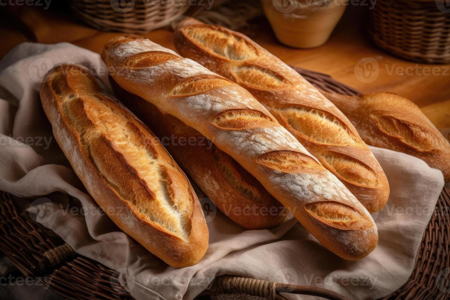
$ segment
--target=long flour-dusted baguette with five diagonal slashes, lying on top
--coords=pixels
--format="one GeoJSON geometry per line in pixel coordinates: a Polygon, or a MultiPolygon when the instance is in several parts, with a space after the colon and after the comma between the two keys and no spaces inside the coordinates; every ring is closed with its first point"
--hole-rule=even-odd
{"type": "Polygon", "coordinates": [[[117,84],[212,140],[329,250],[356,260],[375,248],[365,207],[247,90],[144,38],[117,36],[102,58],[117,84]]]}

